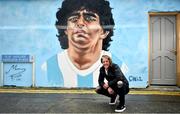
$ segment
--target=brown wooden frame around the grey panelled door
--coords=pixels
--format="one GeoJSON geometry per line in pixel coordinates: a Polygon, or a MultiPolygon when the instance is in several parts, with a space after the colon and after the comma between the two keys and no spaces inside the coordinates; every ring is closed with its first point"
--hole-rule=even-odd
{"type": "Polygon", "coordinates": [[[151,84],[150,79],[150,17],[151,16],[174,15],[176,16],[176,85],[180,87],[180,13],[179,12],[148,12],[148,86],[151,84]]]}

